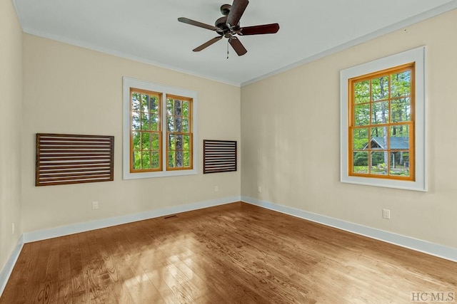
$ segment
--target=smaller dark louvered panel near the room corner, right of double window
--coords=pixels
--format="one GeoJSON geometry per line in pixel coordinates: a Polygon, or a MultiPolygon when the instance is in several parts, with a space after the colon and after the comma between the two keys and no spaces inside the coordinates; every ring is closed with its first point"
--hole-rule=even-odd
{"type": "Polygon", "coordinates": [[[204,173],[236,171],[236,141],[204,140],[204,173]]]}

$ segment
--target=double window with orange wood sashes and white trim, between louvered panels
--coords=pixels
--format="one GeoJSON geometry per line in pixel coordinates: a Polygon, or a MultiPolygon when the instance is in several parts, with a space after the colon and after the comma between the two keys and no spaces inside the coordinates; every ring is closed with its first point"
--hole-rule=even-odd
{"type": "Polygon", "coordinates": [[[124,179],[196,174],[196,93],[124,77],[124,179]]]}

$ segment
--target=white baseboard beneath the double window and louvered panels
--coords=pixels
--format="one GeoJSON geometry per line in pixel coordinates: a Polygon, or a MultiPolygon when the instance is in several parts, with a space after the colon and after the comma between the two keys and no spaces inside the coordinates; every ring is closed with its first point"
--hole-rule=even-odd
{"type": "Polygon", "coordinates": [[[69,234],[78,234],[80,232],[91,231],[121,224],[128,224],[134,221],[143,221],[145,219],[154,219],[159,216],[167,216],[186,211],[193,211],[197,209],[208,208],[212,206],[219,206],[230,204],[234,201],[241,201],[241,196],[224,197],[221,199],[213,199],[210,201],[201,201],[193,204],[186,204],[181,206],[174,206],[165,209],[144,211],[137,214],[129,214],[125,216],[111,217],[109,219],[99,219],[96,221],[88,221],[84,223],[71,224],[68,226],[59,226],[51,229],[44,229],[39,231],[31,231],[24,233],[24,243],[34,241],[42,241],[45,239],[52,239],[59,236],[68,236],[69,234]]]}

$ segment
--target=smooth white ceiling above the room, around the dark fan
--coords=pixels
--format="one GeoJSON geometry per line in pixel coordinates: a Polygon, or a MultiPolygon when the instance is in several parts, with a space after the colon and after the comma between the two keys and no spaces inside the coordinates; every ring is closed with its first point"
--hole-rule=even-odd
{"type": "Polygon", "coordinates": [[[245,85],[334,51],[457,8],[457,0],[250,0],[241,26],[279,23],[276,34],[244,36],[248,50],[227,56],[223,39],[177,21],[207,24],[231,0],[13,0],[26,33],[245,85]]]}

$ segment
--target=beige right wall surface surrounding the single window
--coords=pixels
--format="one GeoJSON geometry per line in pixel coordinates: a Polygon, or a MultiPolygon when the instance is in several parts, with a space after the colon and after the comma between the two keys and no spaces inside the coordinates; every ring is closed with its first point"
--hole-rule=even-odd
{"type": "Polygon", "coordinates": [[[456,248],[456,20],[454,10],[243,87],[241,195],[456,248]],[[428,192],[340,183],[340,70],[423,45],[428,192]]]}

